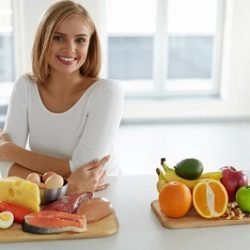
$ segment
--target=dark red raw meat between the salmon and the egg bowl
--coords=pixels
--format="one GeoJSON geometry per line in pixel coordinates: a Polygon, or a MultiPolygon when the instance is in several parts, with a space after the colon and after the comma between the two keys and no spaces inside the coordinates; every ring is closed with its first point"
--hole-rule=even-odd
{"type": "Polygon", "coordinates": [[[93,193],[72,194],[63,196],[61,199],[51,202],[43,210],[55,210],[73,214],[81,202],[92,199],[93,193]]]}

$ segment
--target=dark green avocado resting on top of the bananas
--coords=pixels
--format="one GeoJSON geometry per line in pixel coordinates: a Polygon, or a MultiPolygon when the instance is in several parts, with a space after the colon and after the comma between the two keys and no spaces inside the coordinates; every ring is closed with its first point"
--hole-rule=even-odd
{"type": "Polygon", "coordinates": [[[195,158],[184,159],[174,168],[177,175],[188,180],[197,179],[203,172],[203,164],[195,158]]]}

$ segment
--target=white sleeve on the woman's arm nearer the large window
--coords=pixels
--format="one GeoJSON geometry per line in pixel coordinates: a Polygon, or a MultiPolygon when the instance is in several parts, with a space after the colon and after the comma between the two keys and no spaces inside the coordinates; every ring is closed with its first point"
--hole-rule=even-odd
{"type": "Polygon", "coordinates": [[[117,83],[109,84],[91,100],[83,133],[70,161],[71,172],[110,153],[121,121],[123,93],[117,83]]]}

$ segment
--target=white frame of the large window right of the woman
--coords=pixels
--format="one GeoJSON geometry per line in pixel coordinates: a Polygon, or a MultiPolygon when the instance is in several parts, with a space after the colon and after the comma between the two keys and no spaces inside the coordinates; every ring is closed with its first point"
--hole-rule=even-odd
{"type": "MultiPolygon", "coordinates": [[[[213,56],[212,56],[212,76],[211,79],[202,80],[202,86],[196,79],[187,80],[170,80],[166,79],[167,75],[167,38],[171,33],[167,33],[165,28],[167,24],[167,9],[168,0],[157,0],[157,14],[156,14],[156,31],[153,36],[153,69],[152,69],[152,83],[154,89],[152,91],[125,91],[125,98],[127,99],[164,99],[175,97],[220,97],[221,90],[221,63],[222,63],[222,44],[224,35],[224,22],[225,22],[225,0],[217,0],[217,16],[216,16],[216,31],[214,33],[213,56]],[[162,55],[166,56],[163,57],[162,55]],[[174,83],[174,84],[173,84],[174,83]],[[185,87],[183,87],[185,86],[185,87]]],[[[114,34],[106,33],[106,51],[105,55],[108,56],[108,37],[127,36],[128,34],[114,34]]],[[[140,36],[141,34],[133,34],[133,36],[140,36]]],[[[149,35],[149,33],[147,33],[149,35]]],[[[106,60],[105,75],[108,71],[108,60],[106,60]]],[[[126,80],[118,80],[124,85],[126,80]]],[[[136,82],[136,80],[133,80],[136,82]]],[[[141,81],[141,80],[140,80],[141,81]]],[[[143,80],[142,80],[143,81],[143,80]]],[[[145,80],[145,82],[150,80],[145,80]]],[[[132,81],[131,81],[132,82],[132,81]]]]}

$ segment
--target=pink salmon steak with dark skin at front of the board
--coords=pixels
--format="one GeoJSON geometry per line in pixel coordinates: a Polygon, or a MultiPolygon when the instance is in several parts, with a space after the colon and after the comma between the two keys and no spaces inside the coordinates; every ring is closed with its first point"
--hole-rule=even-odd
{"type": "Polygon", "coordinates": [[[26,215],[22,229],[34,234],[81,233],[87,230],[87,221],[85,215],[46,210],[26,215]]]}

